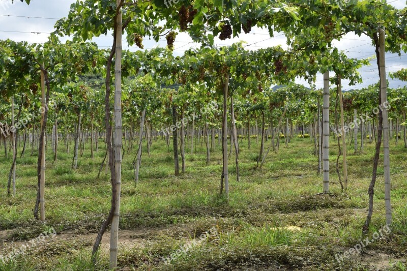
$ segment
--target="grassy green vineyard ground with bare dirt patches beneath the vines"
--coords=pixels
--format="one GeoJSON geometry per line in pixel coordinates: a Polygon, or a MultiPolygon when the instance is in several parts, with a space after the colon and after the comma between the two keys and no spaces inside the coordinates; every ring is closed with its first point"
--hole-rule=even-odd
{"type": "MultiPolygon", "coordinates": [[[[365,142],[363,153],[354,153],[353,144],[348,142],[347,194],[341,192],[335,170],[335,139],[330,142],[330,194],[319,194],[322,176],[316,173],[312,139],[296,137],[287,147],[281,142],[278,153],[270,152],[261,170],[254,169],[259,142],[254,138],[251,141],[250,149],[247,139],[240,141],[239,183],[234,154],[229,158],[229,204],[218,196],[222,165],[217,140],[209,164],[205,163],[205,143],[195,144],[194,155],[187,147],[187,169],[180,176],[173,175],[172,143],[168,152],[164,140],[153,140],[150,156],[144,143],[137,188],[132,166],[137,148],[130,154],[126,151],[118,259],[121,270],[407,268],[407,148],[403,142],[395,146],[394,139],[391,141],[391,233],[374,239],[360,254],[342,257],[343,261],[338,262],[335,256],[343,255],[366,237],[373,239],[385,225],[381,160],[369,234],[361,231],[367,214],[374,141],[365,142]],[[196,243],[190,245],[191,240],[196,243]]],[[[11,158],[4,158],[4,154],[0,158],[0,256],[6,257],[44,231],[51,232],[52,227],[57,233],[7,263],[0,258],[0,270],[108,269],[108,231],[96,267],[90,262],[93,243],[110,207],[110,180],[104,170],[97,177],[104,144],[100,142],[102,147],[91,159],[88,142],[78,169],[72,170],[73,142],[70,154],[66,154],[63,143],[53,164],[51,147],[47,147],[45,223],[33,219],[37,158],[30,156],[31,147],[17,159],[16,197],[7,196],[6,191],[11,158]]]]}

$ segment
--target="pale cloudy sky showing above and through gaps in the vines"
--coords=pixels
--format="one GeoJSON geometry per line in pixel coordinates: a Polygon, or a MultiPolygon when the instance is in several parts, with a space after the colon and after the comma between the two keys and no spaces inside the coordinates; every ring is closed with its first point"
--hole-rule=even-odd
{"type": "MultiPolygon", "coordinates": [[[[49,33],[54,28],[57,19],[68,15],[70,5],[76,0],[32,0],[30,6],[15,0],[11,4],[10,0],[0,0],[0,39],[11,39],[14,41],[27,41],[30,43],[43,43],[47,41],[49,33]],[[22,16],[22,17],[14,17],[22,16]],[[35,34],[34,34],[34,33],[35,34]],[[38,33],[38,34],[37,34],[38,33]]],[[[389,4],[398,9],[406,6],[406,0],[391,0],[389,4]]],[[[64,42],[67,38],[61,38],[64,42]]],[[[92,40],[96,42],[100,48],[111,47],[113,38],[111,34],[108,37],[102,36],[92,40]],[[110,37],[109,37],[110,36],[110,37]]],[[[215,44],[230,45],[232,43],[244,41],[246,48],[249,50],[256,50],[259,48],[267,48],[271,46],[281,45],[283,48],[288,48],[286,45],[286,38],[275,33],[273,38],[270,38],[267,29],[260,29],[253,27],[251,33],[242,34],[230,40],[221,41],[215,38],[215,44]]],[[[166,46],[165,37],[162,37],[158,43],[149,38],[144,38],[144,49],[151,49],[156,46],[166,46]]],[[[126,41],[123,43],[124,49],[132,51],[138,50],[136,46],[128,47],[126,41]]],[[[361,37],[355,34],[347,34],[340,41],[334,41],[333,46],[339,50],[346,52],[348,57],[354,58],[367,58],[375,56],[374,47],[372,46],[371,39],[362,35],[361,37]]],[[[175,42],[175,55],[182,55],[185,50],[189,48],[199,47],[199,44],[192,42],[192,39],[185,33],[177,35],[175,42]]],[[[371,66],[364,66],[359,69],[363,83],[355,86],[349,86],[348,81],[343,80],[343,91],[350,89],[360,89],[370,84],[379,81],[379,72],[375,60],[371,61],[371,66]]],[[[386,73],[395,72],[402,68],[407,68],[407,53],[402,53],[401,57],[397,54],[386,53],[386,73]]],[[[392,80],[390,78],[390,87],[404,86],[407,82],[400,80],[392,80]]],[[[297,83],[304,84],[309,87],[309,84],[303,79],[297,79],[297,83]]],[[[322,74],[317,75],[315,82],[317,88],[323,87],[322,74]]]]}

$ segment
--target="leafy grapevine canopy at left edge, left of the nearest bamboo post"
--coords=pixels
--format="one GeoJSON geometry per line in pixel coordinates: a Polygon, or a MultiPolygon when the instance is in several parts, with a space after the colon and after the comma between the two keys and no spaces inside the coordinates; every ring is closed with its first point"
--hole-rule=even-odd
{"type": "Polygon", "coordinates": [[[55,35],[44,44],[0,41],[0,95],[36,92],[40,70],[50,75],[47,81],[52,87],[62,87],[70,80],[78,80],[79,74],[98,72],[101,53],[94,43],[61,44],[55,35]]]}

